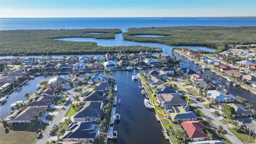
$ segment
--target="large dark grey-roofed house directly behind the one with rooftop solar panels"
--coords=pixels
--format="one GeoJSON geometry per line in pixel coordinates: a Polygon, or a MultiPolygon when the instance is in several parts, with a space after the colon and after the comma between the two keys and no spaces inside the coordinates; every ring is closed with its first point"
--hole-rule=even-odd
{"type": "Polygon", "coordinates": [[[103,102],[86,102],[82,109],[74,114],[74,121],[95,122],[97,118],[102,118],[104,110],[103,102]]]}

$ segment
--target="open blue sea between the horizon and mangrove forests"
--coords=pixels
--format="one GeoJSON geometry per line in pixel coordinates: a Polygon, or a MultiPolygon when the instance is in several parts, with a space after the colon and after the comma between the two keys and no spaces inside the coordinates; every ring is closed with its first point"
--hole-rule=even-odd
{"type": "Polygon", "coordinates": [[[256,19],[204,18],[1,18],[0,30],[140,28],[162,26],[256,26],[256,19]]]}

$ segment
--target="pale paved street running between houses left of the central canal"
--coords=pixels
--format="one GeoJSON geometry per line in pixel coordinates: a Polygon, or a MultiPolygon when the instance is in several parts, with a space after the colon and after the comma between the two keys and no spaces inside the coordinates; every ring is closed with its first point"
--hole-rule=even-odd
{"type": "MultiPolygon", "coordinates": [[[[85,89],[83,91],[85,91],[85,89]]],[[[77,94],[80,94],[80,93],[74,92],[73,89],[70,88],[69,90],[66,91],[66,94],[70,98],[70,101],[68,102],[68,104],[62,106],[62,108],[60,109],[60,111],[58,112],[58,114],[56,115],[54,120],[50,123],[48,128],[46,128],[45,132],[42,134],[42,136],[39,138],[39,140],[36,142],[36,144],[46,144],[46,142],[49,140],[57,140],[57,136],[50,136],[49,132],[52,129],[52,127],[54,126],[54,124],[58,125],[61,122],[62,118],[66,114],[66,111],[72,104],[72,101],[74,100],[74,96],[76,96],[77,94]]]]}

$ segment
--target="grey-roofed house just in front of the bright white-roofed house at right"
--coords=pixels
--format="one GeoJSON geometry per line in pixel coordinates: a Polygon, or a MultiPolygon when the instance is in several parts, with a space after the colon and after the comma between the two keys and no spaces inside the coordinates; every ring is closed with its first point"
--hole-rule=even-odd
{"type": "MultiPolygon", "coordinates": [[[[246,107],[242,104],[228,104],[228,105],[232,106],[235,109],[236,111],[235,117],[237,118],[241,118],[243,117],[243,115],[246,117],[253,116],[252,110],[246,109],[246,107]]],[[[219,106],[222,106],[222,105],[219,105],[219,106]]]]}

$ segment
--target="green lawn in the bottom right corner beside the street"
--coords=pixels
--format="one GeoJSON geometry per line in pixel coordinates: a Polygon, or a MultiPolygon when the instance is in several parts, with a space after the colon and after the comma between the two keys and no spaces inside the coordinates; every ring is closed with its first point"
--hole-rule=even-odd
{"type": "Polygon", "coordinates": [[[242,130],[242,129],[241,129],[242,130],[241,133],[236,132],[236,130],[233,130],[233,128],[228,128],[228,130],[230,130],[230,132],[232,132],[232,134],[234,134],[234,136],[236,136],[243,143],[250,144],[250,143],[255,142],[255,139],[252,138],[252,136],[250,136],[249,142],[247,142],[249,134],[247,132],[245,132],[244,130],[242,130]]]}

